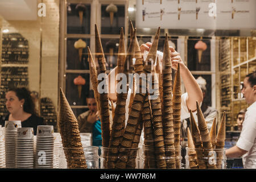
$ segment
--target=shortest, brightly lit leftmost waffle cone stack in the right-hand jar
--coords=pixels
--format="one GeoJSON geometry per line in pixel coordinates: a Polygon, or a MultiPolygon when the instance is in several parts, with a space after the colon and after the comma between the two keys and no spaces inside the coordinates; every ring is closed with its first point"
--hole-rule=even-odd
{"type": "Polygon", "coordinates": [[[189,169],[197,169],[197,159],[196,159],[196,151],[195,151],[195,145],[193,143],[192,135],[190,133],[189,128],[187,128],[187,134],[188,134],[188,167],[189,169]]]}

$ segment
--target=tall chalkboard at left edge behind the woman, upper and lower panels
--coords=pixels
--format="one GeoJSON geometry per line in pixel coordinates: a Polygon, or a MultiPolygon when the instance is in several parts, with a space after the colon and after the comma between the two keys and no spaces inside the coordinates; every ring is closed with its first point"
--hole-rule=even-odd
{"type": "Polygon", "coordinates": [[[11,87],[28,87],[28,41],[18,33],[2,35],[0,115],[8,113],[5,93],[11,87]]]}

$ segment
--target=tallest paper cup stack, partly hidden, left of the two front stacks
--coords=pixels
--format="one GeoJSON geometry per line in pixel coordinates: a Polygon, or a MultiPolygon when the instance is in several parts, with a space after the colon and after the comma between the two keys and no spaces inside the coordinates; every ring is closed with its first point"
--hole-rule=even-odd
{"type": "Polygon", "coordinates": [[[5,162],[6,168],[15,168],[17,129],[21,121],[5,121],[5,162]]]}

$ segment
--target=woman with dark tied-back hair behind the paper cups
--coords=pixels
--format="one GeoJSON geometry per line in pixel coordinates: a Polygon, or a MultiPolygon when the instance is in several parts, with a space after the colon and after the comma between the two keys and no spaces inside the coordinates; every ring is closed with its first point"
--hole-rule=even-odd
{"type": "Polygon", "coordinates": [[[43,118],[36,115],[30,91],[26,88],[11,88],[6,92],[5,98],[10,114],[3,119],[2,126],[5,126],[5,121],[21,121],[22,127],[33,127],[36,135],[37,127],[44,124],[43,118]]]}

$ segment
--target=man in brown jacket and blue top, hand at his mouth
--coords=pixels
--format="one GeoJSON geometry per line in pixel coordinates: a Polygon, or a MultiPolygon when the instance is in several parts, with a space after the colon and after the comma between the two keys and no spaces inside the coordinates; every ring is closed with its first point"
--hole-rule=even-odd
{"type": "Polygon", "coordinates": [[[80,133],[92,133],[92,145],[102,146],[100,112],[97,109],[97,102],[93,90],[89,91],[86,98],[88,111],[77,117],[80,133]]]}

